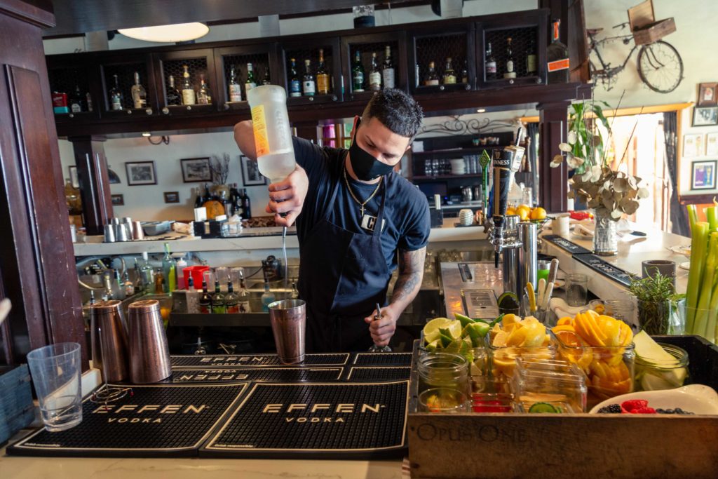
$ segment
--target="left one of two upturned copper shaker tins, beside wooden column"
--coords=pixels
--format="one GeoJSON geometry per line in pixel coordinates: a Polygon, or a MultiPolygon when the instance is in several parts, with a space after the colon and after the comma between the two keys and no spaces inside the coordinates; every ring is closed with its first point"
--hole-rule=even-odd
{"type": "Polygon", "coordinates": [[[124,381],[129,376],[127,327],[121,301],[112,299],[90,309],[90,343],[93,365],[105,381],[124,381]]]}

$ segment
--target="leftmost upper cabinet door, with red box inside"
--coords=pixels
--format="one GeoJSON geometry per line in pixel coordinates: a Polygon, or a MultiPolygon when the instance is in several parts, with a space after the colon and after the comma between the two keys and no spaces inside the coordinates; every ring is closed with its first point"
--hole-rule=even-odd
{"type": "Polygon", "coordinates": [[[94,57],[89,54],[50,55],[47,57],[47,75],[53,96],[55,122],[58,124],[85,123],[100,117],[102,88],[94,57]],[[80,89],[80,111],[72,111],[70,101],[80,89]],[[65,95],[65,97],[62,96],[65,95]],[[55,106],[57,97],[57,106],[55,106]],[[63,101],[66,106],[60,106],[63,101]]]}

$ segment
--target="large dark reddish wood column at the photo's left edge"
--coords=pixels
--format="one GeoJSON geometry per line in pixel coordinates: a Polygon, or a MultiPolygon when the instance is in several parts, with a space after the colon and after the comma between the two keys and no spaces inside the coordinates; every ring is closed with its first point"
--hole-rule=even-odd
{"type": "Polygon", "coordinates": [[[0,296],[9,297],[6,356],[83,345],[75,257],[47,80],[42,28],[49,1],[0,0],[0,296]],[[42,9],[38,5],[47,5],[42,9]]]}

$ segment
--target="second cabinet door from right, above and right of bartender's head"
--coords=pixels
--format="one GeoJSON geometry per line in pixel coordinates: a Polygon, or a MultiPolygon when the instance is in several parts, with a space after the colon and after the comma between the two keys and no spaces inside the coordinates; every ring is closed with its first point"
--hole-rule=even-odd
{"type": "Polygon", "coordinates": [[[409,34],[411,35],[409,81],[412,93],[437,93],[474,88],[475,42],[472,24],[447,25],[441,33],[437,33],[437,29],[416,29],[409,34]],[[449,60],[454,70],[453,75],[447,74],[449,60]],[[434,62],[433,82],[429,81],[431,62],[434,62]],[[465,74],[462,73],[463,70],[466,70],[465,74]]]}

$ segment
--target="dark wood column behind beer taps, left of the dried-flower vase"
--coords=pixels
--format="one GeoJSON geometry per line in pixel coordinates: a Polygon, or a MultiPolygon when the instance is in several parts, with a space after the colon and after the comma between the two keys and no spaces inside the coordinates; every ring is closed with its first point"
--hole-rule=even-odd
{"type": "Polygon", "coordinates": [[[569,101],[538,105],[538,175],[541,188],[540,205],[549,213],[567,210],[568,168],[566,162],[551,168],[549,164],[560,154],[559,143],[566,141],[569,101]]]}

